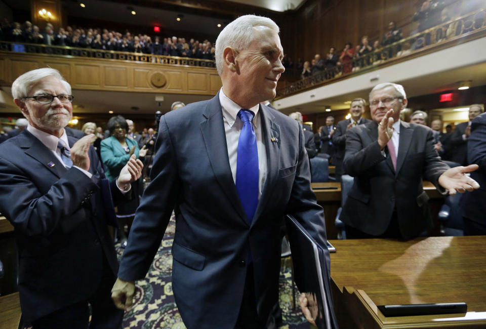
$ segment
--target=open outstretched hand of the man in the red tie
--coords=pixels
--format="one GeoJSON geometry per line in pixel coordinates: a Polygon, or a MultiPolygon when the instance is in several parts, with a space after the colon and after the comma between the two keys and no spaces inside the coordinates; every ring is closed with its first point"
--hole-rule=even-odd
{"type": "Polygon", "coordinates": [[[446,170],[440,175],[438,182],[440,186],[454,195],[456,192],[464,193],[479,188],[479,184],[466,175],[478,169],[478,165],[469,165],[467,167],[459,166],[446,170]]]}

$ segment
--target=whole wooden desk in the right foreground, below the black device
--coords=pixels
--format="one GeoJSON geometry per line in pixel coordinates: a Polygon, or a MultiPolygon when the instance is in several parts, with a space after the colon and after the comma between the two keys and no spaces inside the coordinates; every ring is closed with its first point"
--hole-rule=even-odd
{"type": "Polygon", "coordinates": [[[341,328],[485,328],[486,236],[331,240],[341,328]],[[384,317],[377,305],[467,303],[466,314],[384,317]]]}

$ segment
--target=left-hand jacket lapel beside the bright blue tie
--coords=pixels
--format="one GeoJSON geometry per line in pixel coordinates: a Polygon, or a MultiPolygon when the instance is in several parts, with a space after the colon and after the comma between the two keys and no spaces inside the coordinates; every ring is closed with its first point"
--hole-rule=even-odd
{"type": "Polygon", "coordinates": [[[205,120],[201,122],[200,129],[204,144],[208,152],[216,180],[224,195],[228,197],[242,221],[248,225],[247,216],[234,185],[231,167],[229,166],[228,147],[224,133],[223,112],[219,103],[219,93],[208,103],[203,110],[205,120]]]}

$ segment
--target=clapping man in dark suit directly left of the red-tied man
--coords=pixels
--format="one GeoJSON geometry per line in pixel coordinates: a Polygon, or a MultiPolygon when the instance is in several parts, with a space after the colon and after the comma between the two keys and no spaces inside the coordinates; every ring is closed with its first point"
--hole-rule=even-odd
{"type": "Polygon", "coordinates": [[[365,113],[365,107],[366,101],[364,99],[353,99],[349,108],[349,113],[351,113],[351,117],[349,119],[339,121],[336,125],[336,131],[332,139],[334,148],[336,150],[334,153],[335,160],[333,161],[333,163],[336,166],[337,182],[340,182],[341,176],[345,174],[343,172],[343,160],[344,152],[346,151],[346,132],[356,125],[363,125],[371,122],[370,119],[362,117],[363,113],[365,113]]]}

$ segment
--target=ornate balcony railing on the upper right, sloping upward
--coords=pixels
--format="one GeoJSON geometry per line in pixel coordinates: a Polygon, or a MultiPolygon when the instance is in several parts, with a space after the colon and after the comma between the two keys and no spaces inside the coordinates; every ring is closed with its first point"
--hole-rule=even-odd
{"type": "MultiPolygon", "coordinates": [[[[451,47],[466,36],[480,37],[486,32],[486,8],[444,22],[420,33],[403,38],[391,45],[375,50],[331,69],[296,81],[277,90],[277,98],[297,94],[304,90],[326,85],[331,81],[393,64],[407,57],[420,56],[430,51],[451,47]]],[[[480,51],[480,50],[478,50],[480,51]]]]}

